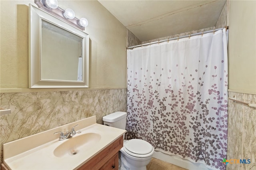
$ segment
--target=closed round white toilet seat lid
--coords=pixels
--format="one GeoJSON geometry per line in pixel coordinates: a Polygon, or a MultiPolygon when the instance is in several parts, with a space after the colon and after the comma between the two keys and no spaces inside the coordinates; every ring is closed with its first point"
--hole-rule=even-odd
{"type": "Polygon", "coordinates": [[[124,151],[131,156],[145,158],[152,155],[154,148],[145,140],[131,139],[124,145],[124,151]]]}

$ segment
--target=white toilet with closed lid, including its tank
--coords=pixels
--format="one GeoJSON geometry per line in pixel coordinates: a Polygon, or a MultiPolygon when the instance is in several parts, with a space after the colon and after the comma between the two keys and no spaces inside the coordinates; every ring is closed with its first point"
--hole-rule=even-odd
{"type": "MultiPolygon", "coordinates": [[[[126,112],[115,112],[102,118],[104,125],[126,129],[126,112]]],[[[153,146],[145,140],[124,140],[119,151],[119,170],[146,170],[154,153],[153,146]]]]}

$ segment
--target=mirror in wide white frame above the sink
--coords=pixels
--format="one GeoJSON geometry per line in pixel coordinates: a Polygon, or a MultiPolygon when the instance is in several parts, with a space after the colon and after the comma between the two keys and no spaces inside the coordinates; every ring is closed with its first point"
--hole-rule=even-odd
{"type": "Polygon", "coordinates": [[[89,35],[29,8],[29,88],[88,87],[89,35]]]}

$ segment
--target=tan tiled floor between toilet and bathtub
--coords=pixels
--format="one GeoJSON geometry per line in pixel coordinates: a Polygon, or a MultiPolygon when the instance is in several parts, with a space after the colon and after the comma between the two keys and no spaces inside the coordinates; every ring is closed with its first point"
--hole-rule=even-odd
{"type": "Polygon", "coordinates": [[[151,162],[147,165],[147,170],[186,170],[180,166],[164,162],[162,160],[152,158],[151,162]]]}

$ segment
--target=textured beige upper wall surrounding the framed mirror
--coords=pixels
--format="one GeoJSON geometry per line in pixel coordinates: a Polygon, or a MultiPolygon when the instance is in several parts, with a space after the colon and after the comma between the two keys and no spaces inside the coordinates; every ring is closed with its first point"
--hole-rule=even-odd
{"type": "MultiPolygon", "coordinates": [[[[1,90],[28,89],[29,3],[34,0],[0,0],[1,90]]],[[[89,22],[85,30],[90,36],[89,87],[126,88],[126,28],[96,0],[59,0],[58,4],[89,22]]]]}

